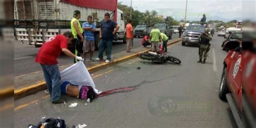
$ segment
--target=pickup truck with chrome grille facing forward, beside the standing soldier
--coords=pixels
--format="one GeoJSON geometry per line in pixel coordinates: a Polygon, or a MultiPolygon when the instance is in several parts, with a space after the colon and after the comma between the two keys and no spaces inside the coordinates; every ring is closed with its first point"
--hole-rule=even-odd
{"type": "Polygon", "coordinates": [[[182,36],[182,45],[186,43],[199,43],[199,36],[204,33],[206,26],[204,25],[189,25],[182,36]]]}

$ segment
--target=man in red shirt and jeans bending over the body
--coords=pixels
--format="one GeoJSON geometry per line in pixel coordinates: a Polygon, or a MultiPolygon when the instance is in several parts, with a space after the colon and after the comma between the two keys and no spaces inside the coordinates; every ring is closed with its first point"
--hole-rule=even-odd
{"type": "Polygon", "coordinates": [[[64,52],[67,56],[77,60],[83,60],[82,57],[78,57],[68,50],[68,44],[71,43],[72,39],[73,35],[69,31],[63,35],[50,37],[39,49],[35,60],[42,66],[44,79],[53,104],[65,102],[64,99],[60,98],[60,74],[57,57],[60,53],[64,52]]]}

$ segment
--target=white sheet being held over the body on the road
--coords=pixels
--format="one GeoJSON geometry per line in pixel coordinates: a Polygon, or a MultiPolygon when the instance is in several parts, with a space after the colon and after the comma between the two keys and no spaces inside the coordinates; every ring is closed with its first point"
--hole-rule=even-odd
{"type": "Polygon", "coordinates": [[[61,83],[68,81],[75,85],[91,86],[97,95],[101,93],[101,91],[99,92],[96,89],[95,83],[82,61],[79,61],[78,63],[71,65],[69,68],[61,71],[60,78],[61,83]]]}

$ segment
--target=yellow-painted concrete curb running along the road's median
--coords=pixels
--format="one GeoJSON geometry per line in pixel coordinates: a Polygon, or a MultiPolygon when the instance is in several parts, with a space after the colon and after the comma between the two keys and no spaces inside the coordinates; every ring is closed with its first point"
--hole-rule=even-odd
{"type": "MultiPolygon", "coordinates": [[[[171,44],[174,44],[174,43],[177,43],[177,42],[180,42],[180,41],[181,41],[181,39],[178,39],[177,41],[169,42],[169,43],[167,43],[167,46],[171,45],[171,44]]],[[[136,58],[140,53],[144,53],[144,52],[148,52],[148,51],[151,51],[151,49],[148,49],[148,50],[145,50],[145,51],[142,51],[142,52],[138,52],[138,53],[134,53],[133,55],[124,56],[122,58],[113,60],[110,63],[103,62],[103,63],[100,63],[98,65],[91,66],[90,68],[88,68],[88,71],[90,73],[93,73],[93,72],[105,69],[109,66],[112,66],[112,65],[115,65],[115,64],[118,64],[118,63],[121,63],[121,62],[125,62],[126,60],[136,58]]],[[[31,95],[33,93],[36,93],[36,92],[39,92],[39,91],[42,91],[42,90],[45,90],[45,89],[47,89],[45,82],[40,82],[40,83],[37,83],[37,84],[26,86],[26,87],[23,87],[21,89],[14,90],[14,99],[19,99],[19,98],[31,95]]],[[[12,93],[13,93],[13,90],[12,90],[12,93]]]]}

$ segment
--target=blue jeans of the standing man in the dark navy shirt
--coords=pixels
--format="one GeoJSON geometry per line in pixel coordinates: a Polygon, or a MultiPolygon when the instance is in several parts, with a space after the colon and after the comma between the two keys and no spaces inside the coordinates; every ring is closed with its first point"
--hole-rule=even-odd
{"type": "Polygon", "coordinates": [[[106,48],[107,49],[107,51],[106,51],[107,60],[111,60],[112,42],[113,41],[107,41],[104,39],[100,39],[99,56],[98,56],[100,59],[103,59],[103,52],[104,52],[104,49],[106,48]]]}

